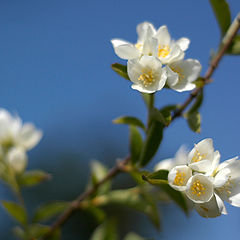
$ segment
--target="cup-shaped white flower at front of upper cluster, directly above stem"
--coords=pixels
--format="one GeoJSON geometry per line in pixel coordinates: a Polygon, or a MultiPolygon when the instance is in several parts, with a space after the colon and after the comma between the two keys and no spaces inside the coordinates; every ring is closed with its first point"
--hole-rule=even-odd
{"type": "Polygon", "coordinates": [[[153,56],[142,56],[140,59],[128,61],[127,71],[134,83],[133,89],[144,93],[154,93],[161,90],[167,79],[166,69],[162,68],[159,59],[153,56]]]}

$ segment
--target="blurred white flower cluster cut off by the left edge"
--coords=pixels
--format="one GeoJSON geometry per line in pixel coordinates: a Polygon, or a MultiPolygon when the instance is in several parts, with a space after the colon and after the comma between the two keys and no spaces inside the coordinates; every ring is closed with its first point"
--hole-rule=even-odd
{"type": "Polygon", "coordinates": [[[27,165],[26,152],[42,138],[42,132],[31,123],[22,123],[18,116],[12,116],[0,109],[0,164],[15,173],[24,171],[27,165]]]}

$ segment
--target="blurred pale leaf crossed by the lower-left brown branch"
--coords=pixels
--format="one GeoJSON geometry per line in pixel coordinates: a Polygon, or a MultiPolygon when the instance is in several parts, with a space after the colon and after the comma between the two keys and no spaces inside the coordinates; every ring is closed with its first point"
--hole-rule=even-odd
{"type": "MultiPolygon", "coordinates": [[[[99,161],[91,162],[91,180],[92,185],[97,184],[101,181],[108,173],[108,169],[99,161]]],[[[111,188],[111,181],[107,181],[97,189],[97,195],[107,193],[111,188]]]]}

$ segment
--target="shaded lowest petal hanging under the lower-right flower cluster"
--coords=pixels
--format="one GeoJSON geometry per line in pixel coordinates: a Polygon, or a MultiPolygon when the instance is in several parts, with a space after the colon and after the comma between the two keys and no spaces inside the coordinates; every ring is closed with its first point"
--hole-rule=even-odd
{"type": "Polygon", "coordinates": [[[205,218],[215,218],[221,214],[227,214],[224,203],[217,194],[214,194],[209,202],[195,204],[195,209],[200,216],[205,218]]]}

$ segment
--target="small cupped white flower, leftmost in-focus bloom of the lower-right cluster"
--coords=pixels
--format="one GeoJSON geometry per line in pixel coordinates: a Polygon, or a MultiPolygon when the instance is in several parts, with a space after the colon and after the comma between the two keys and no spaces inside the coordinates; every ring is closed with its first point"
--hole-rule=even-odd
{"type": "Polygon", "coordinates": [[[192,169],[186,165],[174,167],[168,174],[169,185],[178,191],[187,189],[187,182],[192,176],[192,169]]]}

